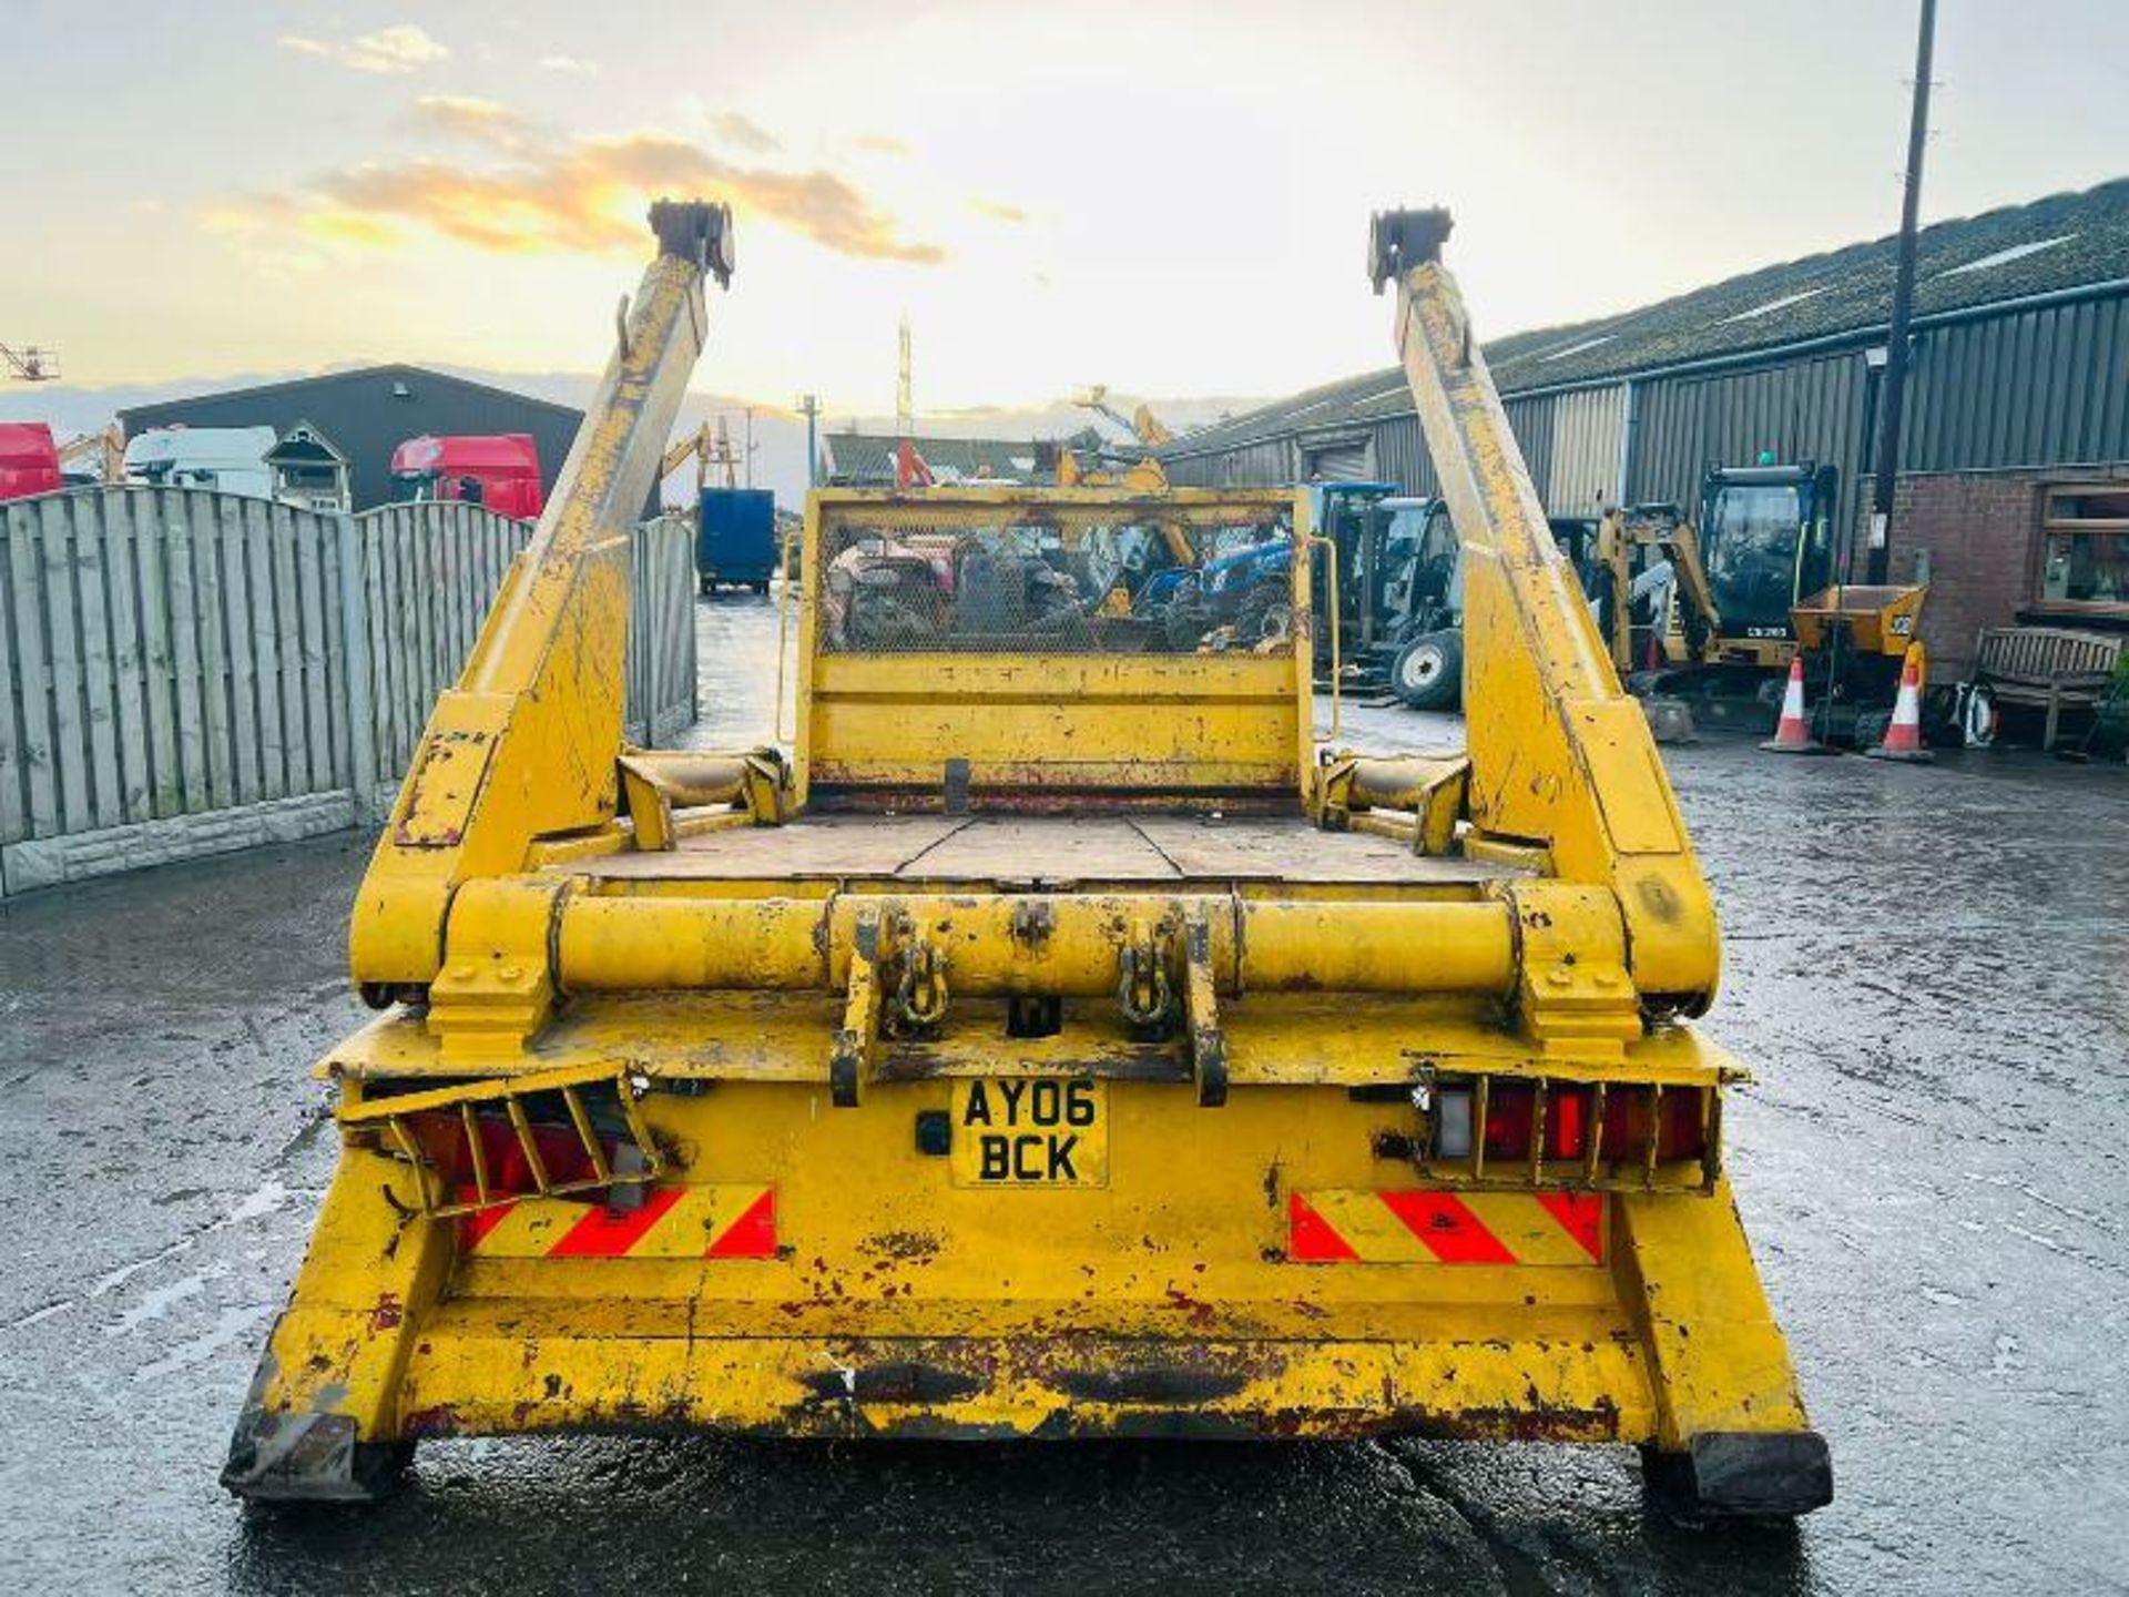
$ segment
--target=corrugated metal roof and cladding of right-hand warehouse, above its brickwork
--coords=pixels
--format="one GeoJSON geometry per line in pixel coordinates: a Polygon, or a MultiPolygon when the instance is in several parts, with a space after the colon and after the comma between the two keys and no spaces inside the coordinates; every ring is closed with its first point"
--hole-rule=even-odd
{"type": "MultiPolygon", "coordinates": [[[[1884,339],[1895,243],[1488,343],[1548,509],[1582,515],[1620,494],[1690,503],[1705,466],[1773,449],[1839,466],[1852,515],[1876,426],[1865,349],[1884,339]]],[[[2129,458],[2129,179],[1925,228],[1916,313],[1908,468],[2129,458]]],[[[1297,441],[1337,430],[1371,434],[1375,475],[1433,492],[1397,368],[1203,428],[1162,460],[1182,483],[1290,481],[1297,441]]]]}

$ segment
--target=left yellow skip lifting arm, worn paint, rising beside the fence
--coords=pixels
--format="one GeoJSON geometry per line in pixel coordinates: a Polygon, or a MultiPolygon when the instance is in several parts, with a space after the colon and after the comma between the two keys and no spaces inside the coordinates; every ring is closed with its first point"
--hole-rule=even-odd
{"type": "Polygon", "coordinates": [[[732,279],[728,207],[660,200],[651,228],[658,258],[624,304],[554,498],[436,701],[370,856],[349,937],[366,992],[434,979],[462,884],[522,869],[545,833],[615,813],[630,528],[703,351],[703,279],[732,279]]]}

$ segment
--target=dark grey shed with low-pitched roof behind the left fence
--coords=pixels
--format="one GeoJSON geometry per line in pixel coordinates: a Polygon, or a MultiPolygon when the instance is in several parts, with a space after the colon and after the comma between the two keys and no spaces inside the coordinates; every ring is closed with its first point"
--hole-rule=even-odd
{"type": "Polygon", "coordinates": [[[392,451],[424,432],[530,432],[539,445],[543,485],[551,494],[568,445],[577,441],[583,411],[426,366],[362,366],[119,411],[128,439],[170,426],[270,426],[287,439],[298,424],[307,424],[313,437],[345,456],[353,509],[366,511],[394,498],[392,451]]]}

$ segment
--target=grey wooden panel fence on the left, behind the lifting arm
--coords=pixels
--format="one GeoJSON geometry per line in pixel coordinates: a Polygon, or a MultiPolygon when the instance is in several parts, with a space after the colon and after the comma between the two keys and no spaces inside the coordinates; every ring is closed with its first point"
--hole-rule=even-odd
{"type": "MultiPolygon", "coordinates": [[[[109,488],[0,505],[0,894],[377,818],[528,528],[109,488]]],[[[694,543],[634,547],[630,737],[694,720],[694,543]]]]}

